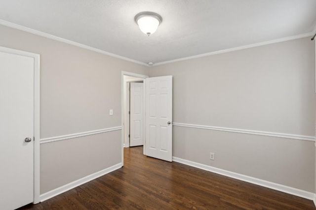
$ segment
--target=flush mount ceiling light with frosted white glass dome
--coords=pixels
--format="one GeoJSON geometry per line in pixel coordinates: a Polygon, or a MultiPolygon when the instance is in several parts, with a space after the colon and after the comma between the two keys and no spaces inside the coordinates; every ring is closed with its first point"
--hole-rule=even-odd
{"type": "Polygon", "coordinates": [[[162,22],[162,18],[155,12],[140,12],[135,16],[135,22],[139,26],[139,29],[149,36],[155,33],[162,22]]]}

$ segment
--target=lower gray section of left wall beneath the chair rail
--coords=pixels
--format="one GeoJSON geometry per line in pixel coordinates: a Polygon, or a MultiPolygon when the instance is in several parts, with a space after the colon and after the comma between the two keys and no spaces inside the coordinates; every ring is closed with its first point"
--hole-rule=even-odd
{"type": "Polygon", "coordinates": [[[42,144],[40,191],[55,189],[118,164],[120,151],[120,130],[42,144]]]}

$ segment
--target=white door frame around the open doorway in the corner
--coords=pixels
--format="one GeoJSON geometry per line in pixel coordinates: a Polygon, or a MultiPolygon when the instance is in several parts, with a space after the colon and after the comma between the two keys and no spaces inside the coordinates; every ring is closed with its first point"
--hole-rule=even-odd
{"type": "MultiPolygon", "coordinates": [[[[124,126],[124,84],[127,84],[127,81],[124,80],[124,75],[125,76],[131,76],[131,77],[137,77],[139,78],[139,80],[143,80],[144,81],[144,87],[145,87],[145,79],[148,78],[148,75],[142,75],[142,74],[136,74],[136,73],[132,73],[132,72],[128,72],[128,71],[121,71],[121,163],[122,166],[124,165],[124,130],[125,130],[125,126],[124,126]]],[[[130,81],[129,81],[130,82],[130,81]]],[[[145,88],[144,90],[144,96],[145,96],[145,88]]],[[[145,97],[144,97],[144,103],[145,103],[145,97]]],[[[125,107],[126,108],[126,107],[125,107]]],[[[145,113],[144,113],[145,116],[145,113]]],[[[126,125],[126,122],[125,122],[126,125]]],[[[145,125],[145,123],[144,123],[145,125]]],[[[143,130],[143,132],[145,133],[145,129],[143,130]]],[[[146,144],[146,139],[144,139],[144,152],[145,152],[145,144],[146,144]]],[[[145,153],[144,153],[145,154],[145,153]]]]}

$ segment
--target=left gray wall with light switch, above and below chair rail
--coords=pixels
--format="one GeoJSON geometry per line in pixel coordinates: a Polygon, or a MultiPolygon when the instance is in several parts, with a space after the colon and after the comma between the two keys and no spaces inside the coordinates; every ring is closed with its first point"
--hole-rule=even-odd
{"type": "MultiPolygon", "coordinates": [[[[121,71],[148,68],[1,25],[0,46],[40,54],[41,138],[120,126],[121,71]]],[[[113,131],[41,144],[40,193],[120,163],[120,142],[113,131]]]]}

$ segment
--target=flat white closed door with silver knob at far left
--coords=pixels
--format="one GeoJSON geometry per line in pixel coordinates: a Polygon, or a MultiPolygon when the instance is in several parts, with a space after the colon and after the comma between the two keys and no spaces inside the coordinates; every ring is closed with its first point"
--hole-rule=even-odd
{"type": "Polygon", "coordinates": [[[0,52],[1,210],[33,202],[33,137],[34,58],[0,52]]]}

